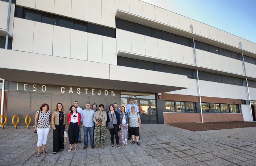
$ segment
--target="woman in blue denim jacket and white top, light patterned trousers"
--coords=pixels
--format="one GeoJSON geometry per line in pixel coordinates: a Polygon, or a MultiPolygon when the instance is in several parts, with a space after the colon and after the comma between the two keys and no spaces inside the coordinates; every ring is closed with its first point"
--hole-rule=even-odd
{"type": "Polygon", "coordinates": [[[125,107],[121,107],[120,112],[120,123],[121,123],[121,141],[122,146],[128,145],[127,143],[127,136],[128,136],[128,122],[129,122],[129,116],[125,112],[125,107]]]}

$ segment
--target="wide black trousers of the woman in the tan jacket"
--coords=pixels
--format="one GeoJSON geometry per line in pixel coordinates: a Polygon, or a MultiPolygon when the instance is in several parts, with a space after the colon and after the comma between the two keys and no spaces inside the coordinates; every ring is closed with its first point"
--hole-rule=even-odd
{"type": "Polygon", "coordinates": [[[53,152],[59,152],[64,149],[64,130],[65,125],[55,125],[56,130],[53,130],[53,152]]]}

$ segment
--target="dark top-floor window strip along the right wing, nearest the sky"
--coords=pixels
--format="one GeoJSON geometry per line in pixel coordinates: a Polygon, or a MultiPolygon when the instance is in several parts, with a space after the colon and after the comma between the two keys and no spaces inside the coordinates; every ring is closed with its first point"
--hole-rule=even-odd
{"type": "MultiPolygon", "coordinates": [[[[189,39],[187,37],[183,37],[177,34],[169,33],[163,30],[158,30],[152,27],[144,26],[138,23],[127,21],[127,20],[116,18],[116,28],[131,31],[138,34],[143,34],[145,36],[155,37],[157,39],[162,39],[162,40],[170,41],[173,43],[178,43],[188,47],[194,47],[194,43],[192,39],[189,39]]],[[[242,54],[232,52],[230,50],[222,49],[220,47],[216,47],[210,44],[206,44],[201,41],[195,40],[195,47],[196,49],[204,50],[207,52],[220,54],[233,59],[243,60],[242,54]]],[[[248,57],[245,55],[244,55],[244,62],[256,64],[256,60],[254,58],[248,57]]]]}

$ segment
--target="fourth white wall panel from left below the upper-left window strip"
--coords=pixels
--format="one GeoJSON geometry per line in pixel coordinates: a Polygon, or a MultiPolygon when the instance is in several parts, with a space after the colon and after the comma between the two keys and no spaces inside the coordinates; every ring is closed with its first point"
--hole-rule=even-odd
{"type": "Polygon", "coordinates": [[[71,58],[87,60],[87,33],[71,29],[71,58]]]}

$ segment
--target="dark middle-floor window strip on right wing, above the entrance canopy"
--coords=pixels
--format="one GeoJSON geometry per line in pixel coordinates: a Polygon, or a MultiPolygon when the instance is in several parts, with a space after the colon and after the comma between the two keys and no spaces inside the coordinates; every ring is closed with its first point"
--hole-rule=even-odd
{"type": "MultiPolygon", "coordinates": [[[[196,70],[188,69],[184,67],[172,66],[168,64],[155,63],[155,62],[149,62],[145,60],[138,60],[138,59],[117,56],[117,65],[134,67],[134,68],[145,69],[145,70],[153,70],[157,72],[180,74],[180,75],[187,76],[189,79],[197,79],[196,70]]],[[[245,79],[216,74],[216,73],[198,71],[198,78],[199,80],[246,86],[245,79]]],[[[250,85],[253,85],[256,88],[255,81],[248,80],[248,84],[249,83],[250,85]]]]}

